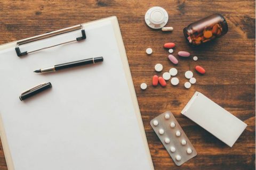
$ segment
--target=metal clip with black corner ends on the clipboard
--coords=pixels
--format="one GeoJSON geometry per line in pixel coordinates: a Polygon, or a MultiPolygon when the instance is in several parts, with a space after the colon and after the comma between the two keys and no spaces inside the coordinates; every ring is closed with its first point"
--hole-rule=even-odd
{"type": "Polygon", "coordinates": [[[27,38],[27,39],[23,39],[23,40],[17,41],[16,47],[15,47],[15,51],[17,53],[17,56],[21,57],[21,56],[25,56],[25,55],[27,55],[29,53],[37,52],[37,51],[42,50],[42,49],[51,48],[51,47],[59,46],[59,45],[62,45],[62,44],[71,43],[71,42],[74,42],[74,41],[81,41],[81,40],[84,40],[84,39],[86,39],[85,30],[83,28],[83,25],[79,24],[79,25],[76,25],[74,27],[69,27],[69,28],[58,30],[58,31],[47,32],[47,33],[45,33],[43,35],[39,35],[39,36],[35,36],[35,37],[31,37],[31,38],[27,38]],[[75,30],[78,30],[78,29],[82,29],[81,30],[82,37],[77,37],[75,40],[66,41],[64,43],[60,43],[60,44],[57,44],[57,45],[52,45],[52,46],[49,46],[49,47],[44,47],[44,48],[36,49],[36,50],[31,51],[31,52],[27,52],[27,51],[26,52],[21,52],[20,51],[19,45],[27,44],[27,43],[30,43],[30,42],[33,42],[33,41],[41,40],[41,39],[44,39],[44,38],[49,38],[49,37],[52,37],[52,36],[57,36],[57,35],[60,35],[62,33],[70,32],[70,31],[75,31],[75,30]]]}

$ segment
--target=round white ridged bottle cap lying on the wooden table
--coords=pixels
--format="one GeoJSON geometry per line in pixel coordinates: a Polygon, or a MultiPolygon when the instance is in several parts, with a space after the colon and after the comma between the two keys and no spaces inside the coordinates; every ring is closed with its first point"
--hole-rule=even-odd
{"type": "Polygon", "coordinates": [[[168,13],[162,7],[151,7],[145,14],[145,21],[150,28],[163,28],[168,21],[168,13]]]}

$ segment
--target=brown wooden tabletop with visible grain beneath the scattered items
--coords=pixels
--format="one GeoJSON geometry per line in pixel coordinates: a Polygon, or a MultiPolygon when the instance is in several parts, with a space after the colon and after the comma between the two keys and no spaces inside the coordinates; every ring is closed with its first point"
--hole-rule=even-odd
{"type": "MultiPolygon", "coordinates": [[[[121,28],[132,79],[138,97],[148,145],[155,169],[254,169],[255,168],[255,2],[254,1],[0,1],[0,43],[35,36],[51,30],[70,27],[116,15],[121,28]],[[145,24],[144,15],[149,7],[162,6],[169,13],[167,26],[174,31],[163,33],[145,24]],[[227,19],[229,31],[213,43],[203,47],[189,47],[182,29],[189,23],[213,13],[227,19]],[[163,72],[174,67],[163,48],[166,42],[174,42],[179,50],[198,56],[179,60],[175,66],[179,75],[178,87],[151,86],[154,65],[162,63],[163,72]],[[146,48],[153,48],[148,56],[146,48]],[[206,69],[205,75],[196,72],[197,83],[190,89],[185,71],[196,65],[206,69]],[[140,89],[146,82],[148,88],[140,89]],[[181,109],[195,91],[215,101],[230,113],[248,124],[246,130],[230,148],[209,132],[180,114],[181,109]],[[149,125],[155,116],[170,110],[186,132],[198,155],[187,163],[175,166],[162,143],[149,125]]],[[[159,73],[158,75],[161,75],[159,73]]],[[[3,148],[0,148],[0,169],[7,169],[3,148]]],[[[47,163],[45,163],[47,164],[47,163]]],[[[24,169],[26,170],[26,169],[24,169]]],[[[36,169],[35,169],[36,170],[36,169]]]]}

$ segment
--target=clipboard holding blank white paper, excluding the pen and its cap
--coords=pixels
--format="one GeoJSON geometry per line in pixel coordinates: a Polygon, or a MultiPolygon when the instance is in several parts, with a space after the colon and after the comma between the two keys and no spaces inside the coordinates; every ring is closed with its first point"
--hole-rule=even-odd
{"type": "Polygon", "coordinates": [[[154,169],[116,16],[1,45],[0,63],[9,170],[154,169]],[[33,73],[102,53],[100,65],[33,73]],[[52,89],[20,101],[39,81],[51,81],[52,89]]]}

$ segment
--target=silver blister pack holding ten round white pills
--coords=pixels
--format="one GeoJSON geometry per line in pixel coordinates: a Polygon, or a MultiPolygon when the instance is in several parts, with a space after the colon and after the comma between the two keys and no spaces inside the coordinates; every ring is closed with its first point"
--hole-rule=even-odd
{"type": "Polygon", "coordinates": [[[180,166],[197,155],[172,112],[167,111],[155,117],[150,125],[176,165],[180,166]]]}

